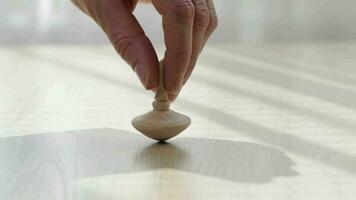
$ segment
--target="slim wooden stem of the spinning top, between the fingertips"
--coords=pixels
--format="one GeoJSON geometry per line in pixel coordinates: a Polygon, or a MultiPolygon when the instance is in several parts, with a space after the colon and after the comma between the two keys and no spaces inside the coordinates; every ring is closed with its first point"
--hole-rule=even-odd
{"type": "Polygon", "coordinates": [[[155,111],[169,110],[170,102],[168,100],[167,91],[164,88],[163,62],[159,63],[158,87],[155,95],[155,101],[152,103],[152,106],[155,111]]]}

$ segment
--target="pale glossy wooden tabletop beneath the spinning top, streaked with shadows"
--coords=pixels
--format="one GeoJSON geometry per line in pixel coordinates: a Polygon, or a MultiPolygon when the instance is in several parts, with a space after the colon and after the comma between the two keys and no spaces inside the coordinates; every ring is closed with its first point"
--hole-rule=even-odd
{"type": "Polygon", "coordinates": [[[157,144],[110,46],[1,46],[0,199],[355,199],[355,65],[353,41],[210,45],[157,144]]]}

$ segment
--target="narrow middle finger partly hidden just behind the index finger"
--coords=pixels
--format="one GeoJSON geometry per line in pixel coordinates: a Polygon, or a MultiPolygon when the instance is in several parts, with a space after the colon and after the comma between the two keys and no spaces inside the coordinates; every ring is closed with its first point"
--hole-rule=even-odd
{"type": "Polygon", "coordinates": [[[207,28],[210,23],[210,10],[206,0],[193,0],[195,6],[195,17],[193,25],[193,46],[190,64],[184,75],[184,82],[188,80],[194,66],[198,60],[198,56],[203,48],[204,38],[207,28]]]}

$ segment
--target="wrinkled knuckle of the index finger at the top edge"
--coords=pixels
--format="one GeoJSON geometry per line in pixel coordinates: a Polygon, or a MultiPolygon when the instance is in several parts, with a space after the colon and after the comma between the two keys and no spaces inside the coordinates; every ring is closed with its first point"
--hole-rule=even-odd
{"type": "Polygon", "coordinates": [[[171,9],[172,15],[181,22],[190,22],[194,19],[195,7],[190,0],[174,0],[171,9]]]}

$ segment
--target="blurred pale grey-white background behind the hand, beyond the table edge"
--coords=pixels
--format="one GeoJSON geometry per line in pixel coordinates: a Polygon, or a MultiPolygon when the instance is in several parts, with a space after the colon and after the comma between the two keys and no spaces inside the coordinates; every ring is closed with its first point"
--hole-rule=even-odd
{"type": "MultiPolygon", "coordinates": [[[[211,42],[352,40],[355,0],[216,0],[220,27],[211,42]]],[[[136,15],[154,43],[160,16],[151,5],[136,15]]],[[[0,43],[106,43],[103,32],[70,0],[1,0],[0,43]]]]}

